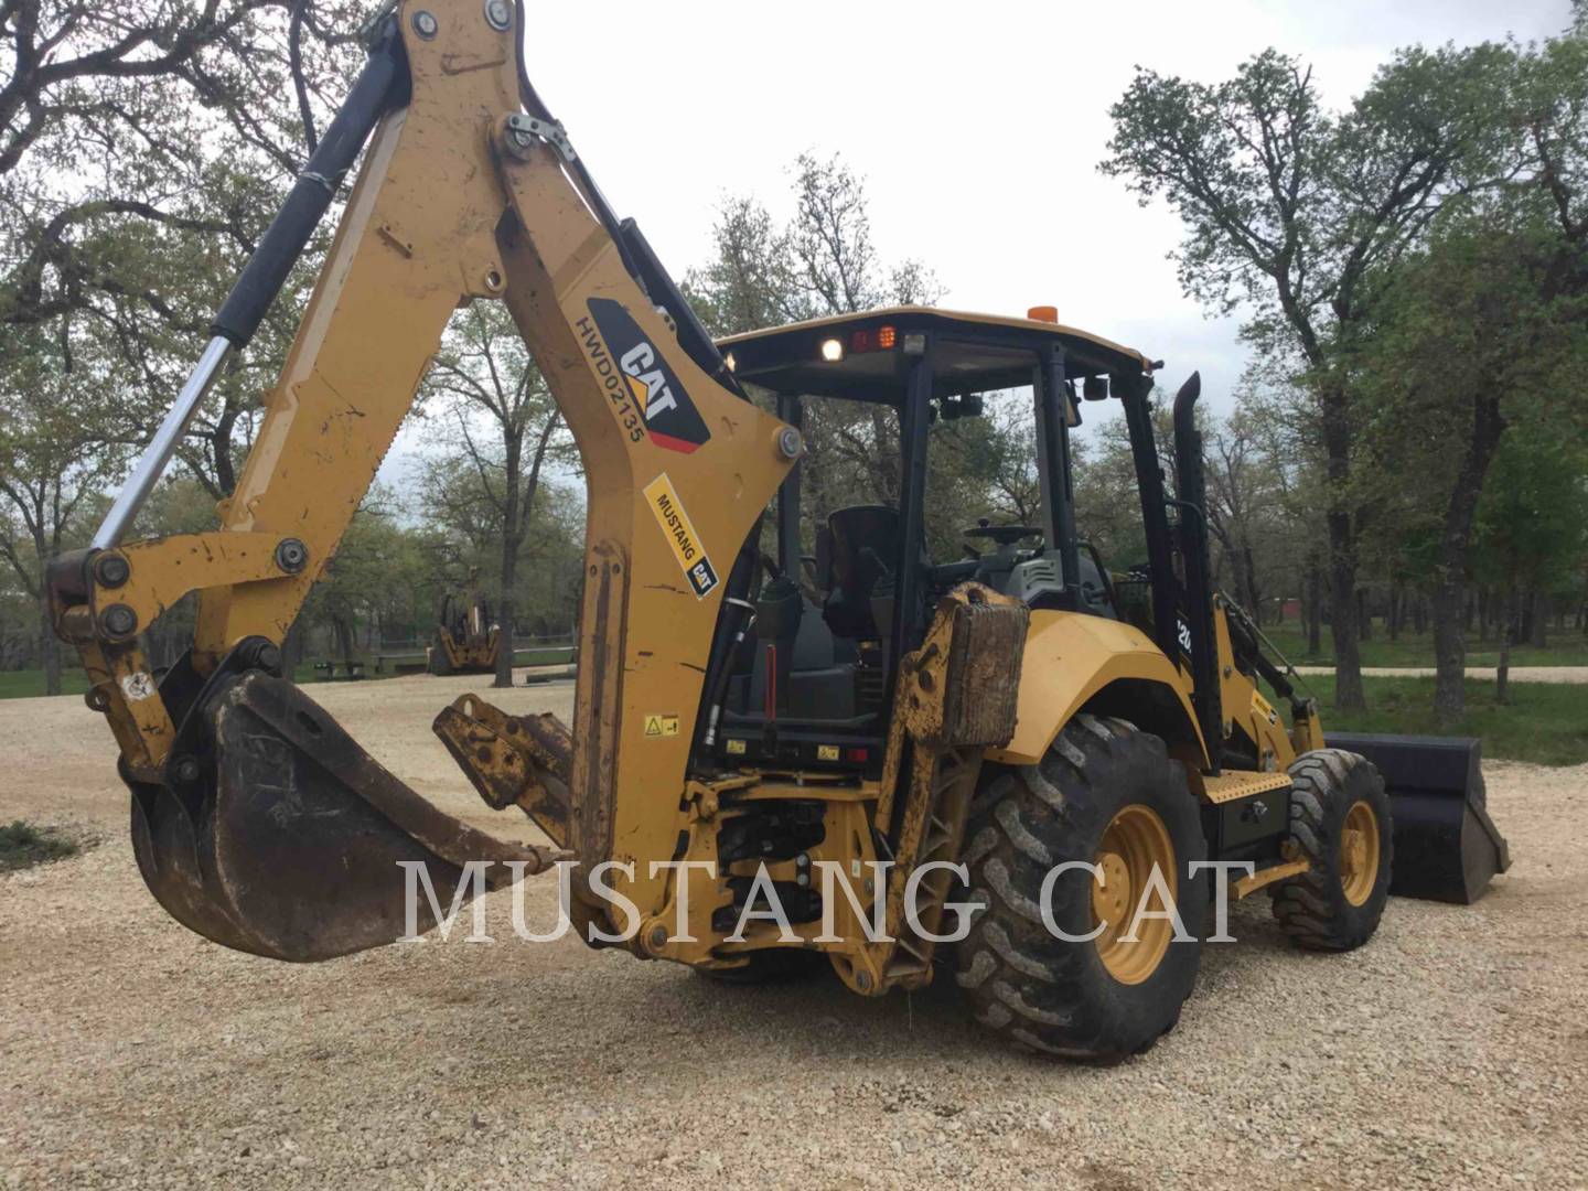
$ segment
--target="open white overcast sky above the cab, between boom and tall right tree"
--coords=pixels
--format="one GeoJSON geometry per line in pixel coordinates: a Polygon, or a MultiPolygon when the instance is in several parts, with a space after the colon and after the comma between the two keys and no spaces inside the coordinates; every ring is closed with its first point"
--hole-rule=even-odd
{"type": "Polygon", "coordinates": [[[1235,324],[1181,295],[1166,259],[1178,221],[1096,170],[1134,65],[1212,83],[1275,46],[1309,60],[1342,106],[1397,46],[1539,38],[1567,11],[1567,0],[537,3],[527,65],[618,214],[676,276],[707,259],[724,195],[786,214],[794,157],[837,151],[865,178],[883,259],[931,265],[945,306],[1058,305],[1064,322],[1164,359],[1170,387],[1201,368],[1223,408],[1245,359],[1235,324]]]}

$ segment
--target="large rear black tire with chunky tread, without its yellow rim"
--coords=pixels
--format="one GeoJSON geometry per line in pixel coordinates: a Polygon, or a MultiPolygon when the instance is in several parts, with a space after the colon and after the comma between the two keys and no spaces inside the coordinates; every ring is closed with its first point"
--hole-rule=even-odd
{"type": "MultiPolygon", "coordinates": [[[[988,765],[972,804],[964,862],[975,912],[958,946],[958,981],[978,1023],[1046,1054],[1120,1062],[1170,1031],[1196,985],[1208,910],[1207,842],[1186,772],[1164,742],[1123,719],[1080,715],[1040,765],[988,765]],[[1137,985],[1118,981],[1091,942],[1046,929],[1039,899],[1050,867],[1093,861],[1104,829],[1124,807],[1158,811],[1175,848],[1177,912],[1191,939],[1172,940],[1137,985]]],[[[1070,935],[1091,931],[1093,875],[1075,869],[1053,886],[1053,919],[1070,935]]]]}

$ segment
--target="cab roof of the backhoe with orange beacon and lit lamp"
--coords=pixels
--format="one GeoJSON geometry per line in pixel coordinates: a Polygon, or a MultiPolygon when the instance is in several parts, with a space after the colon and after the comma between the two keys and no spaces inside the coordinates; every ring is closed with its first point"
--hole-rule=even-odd
{"type": "Polygon", "coordinates": [[[905,353],[905,335],[912,332],[934,340],[934,397],[1031,384],[1034,353],[1048,343],[1064,349],[1070,380],[1153,368],[1132,348],[1059,322],[935,306],[886,306],[729,335],[716,343],[732,357],[734,375],[750,384],[892,403],[902,397],[915,359],[905,353]],[[835,360],[823,353],[834,340],[842,349],[835,360]]]}

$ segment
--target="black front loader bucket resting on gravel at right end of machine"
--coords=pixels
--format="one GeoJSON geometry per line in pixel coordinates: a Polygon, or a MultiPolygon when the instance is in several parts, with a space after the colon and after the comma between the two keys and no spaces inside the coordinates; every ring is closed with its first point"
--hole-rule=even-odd
{"type": "Polygon", "coordinates": [[[1367,757],[1383,775],[1394,816],[1390,892],[1470,905],[1510,867],[1485,807],[1478,740],[1331,732],[1324,743],[1367,757]]]}

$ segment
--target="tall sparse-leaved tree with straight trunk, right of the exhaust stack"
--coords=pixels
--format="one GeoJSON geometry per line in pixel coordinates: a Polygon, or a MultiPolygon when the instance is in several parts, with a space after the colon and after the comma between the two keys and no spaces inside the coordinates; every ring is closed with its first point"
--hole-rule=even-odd
{"type": "MultiPolygon", "coordinates": [[[[1204,84],[1137,70],[1110,114],[1104,173],[1181,218],[1180,281],[1205,306],[1245,310],[1247,337],[1294,354],[1315,402],[1326,492],[1336,703],[1363,705],[1356,635],[1359,510],[1351,502],[1356,391],[1340,353],[1366,318],[1372,272],[1413,246],[1493,156],[1497,46],[1405,49],[1345,113],[1312,71],[1269,49],[1204,84]]],[[[1493,167],[1491,167],[1493,168],[1493,167]]]]}

